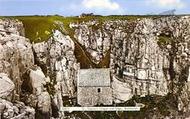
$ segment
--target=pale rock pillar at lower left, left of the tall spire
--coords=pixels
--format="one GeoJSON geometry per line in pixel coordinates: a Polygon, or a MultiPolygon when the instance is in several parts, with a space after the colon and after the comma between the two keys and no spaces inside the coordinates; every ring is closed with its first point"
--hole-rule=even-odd
{"type": "Polygon", "coordinates": [[[34,66],[29,71],[30,85],[32,87],[32,94],[29,96],[31,98],[36,98],[32,101],[32,106],[36,107],[37,110],[42,113],[46,118],[51,116],[51,98],[47,89],[45,88],[46,83],[48,83],[48,78],[45,77],[41,68],[34,66]]]}

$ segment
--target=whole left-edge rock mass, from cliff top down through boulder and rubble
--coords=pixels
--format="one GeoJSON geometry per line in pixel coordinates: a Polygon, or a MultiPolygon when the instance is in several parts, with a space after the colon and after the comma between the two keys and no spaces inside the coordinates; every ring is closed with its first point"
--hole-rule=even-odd
{"type": "Polygon", "coordinates": [[[32,45],[21,36],[23,30],[18,20],[0,19],[0,117],[3,119],[35,118],[35,110],[19,101],[23,74],[34,63],[32,45]]]}

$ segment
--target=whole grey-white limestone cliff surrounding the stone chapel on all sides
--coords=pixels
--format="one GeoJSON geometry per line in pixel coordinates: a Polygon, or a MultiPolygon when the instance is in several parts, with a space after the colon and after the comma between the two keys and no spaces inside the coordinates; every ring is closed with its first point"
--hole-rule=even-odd
{"type": "MultiPolygon", "coordinates": [[[[25,38],[25,22],[0,19],[0,84],[6,84],[0,88],[2,118],[82,118],[62,110],[77,105],[77,72],[104,67],[111,71],[116,105],[145,104],[139,115],[111,116],[190,116],[189,16],[94,19],[70,28],[56,23],[48,39],[34,43],[25,38]]],[[[98,112],[80,115],[99,118],[98,112]]]]}

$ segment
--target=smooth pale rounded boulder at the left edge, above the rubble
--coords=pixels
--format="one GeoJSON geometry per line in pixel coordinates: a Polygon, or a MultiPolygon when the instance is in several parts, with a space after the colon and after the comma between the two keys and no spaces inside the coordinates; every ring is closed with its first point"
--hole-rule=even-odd
{"type": "Polygon", "coordinates": [[[14,90],[14,83],[4,73],[0,73],[0,98],[7,98],[14,90]]]}

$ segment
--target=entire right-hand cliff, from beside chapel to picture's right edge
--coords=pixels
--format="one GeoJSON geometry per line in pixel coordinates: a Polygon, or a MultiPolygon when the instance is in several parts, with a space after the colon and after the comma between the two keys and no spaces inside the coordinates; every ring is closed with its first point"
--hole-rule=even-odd
{"type": "MultiPolygon", "coordinates": [[[[145,95],[172,95],[168,100],[173,104],[165,103],[168,109],[165,112],[170,113],[170,117],[181,118],[178,111],[189,114],[189,22],[189,17],[142,19],[129,38],[120,41],[126,54],[116,50],[112,55],[115,74],[128,84],[125,88],[131,89],[131,93],[135,87],[134,94],[141,96],[143,91],[145,95]],[[148,73],[147,69],[150,69],[148,73]]],[[[113,81],[113,85],[116,84],[113,81]]],[[[116,99],[122,99],[119,94],[123,92],[117,92],[116,99]]],[[[161,117],[159,113],[149,112],[148,117],[161,117]]]]}

